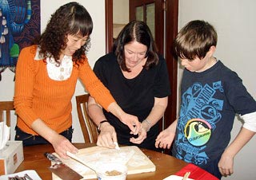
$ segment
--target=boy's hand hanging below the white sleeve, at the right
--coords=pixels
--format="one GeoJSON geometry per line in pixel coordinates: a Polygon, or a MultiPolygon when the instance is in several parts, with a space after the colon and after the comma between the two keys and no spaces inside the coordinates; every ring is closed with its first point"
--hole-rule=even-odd
{"type": "Polygon", "coordinates": [[[233,170],[234,157],[227,155],[226,151],[223,152],[222,158],[218,162],[218,170],[222,176],[228,176],[234,173],[233,170]]]}

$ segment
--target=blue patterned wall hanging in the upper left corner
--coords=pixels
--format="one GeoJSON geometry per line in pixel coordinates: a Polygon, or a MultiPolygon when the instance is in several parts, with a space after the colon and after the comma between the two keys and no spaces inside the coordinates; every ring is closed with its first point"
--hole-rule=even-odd
{"type": "Polygon", "coordinates": [[[22,48],[40,35],[40,0],[0,0],[0,80],[15,72],[22,48]]]}

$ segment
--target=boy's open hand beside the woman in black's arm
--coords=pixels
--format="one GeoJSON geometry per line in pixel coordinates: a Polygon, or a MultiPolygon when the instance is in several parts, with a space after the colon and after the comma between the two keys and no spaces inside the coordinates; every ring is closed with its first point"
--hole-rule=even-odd
{"type": "Polygon", "coordinates": [[[174,141],[175,133],[173,131],[169,131],[167,128],[166,130],[160,132],[157,139],[155,139],[155,147],[160,147],[164,149],[170,149],[171,143],[174,141]]]}

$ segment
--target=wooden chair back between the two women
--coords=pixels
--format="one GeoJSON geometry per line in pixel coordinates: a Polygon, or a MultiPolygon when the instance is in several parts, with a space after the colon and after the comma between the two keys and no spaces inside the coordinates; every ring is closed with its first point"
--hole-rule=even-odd
{"type": "Polygon", "coordinates": [[[97,143],[98,131],[95,123],[90,119],[87,111],[89,94],[76,96],[78,119],[82,128],[82,135],[86,143],[97,143]]]}

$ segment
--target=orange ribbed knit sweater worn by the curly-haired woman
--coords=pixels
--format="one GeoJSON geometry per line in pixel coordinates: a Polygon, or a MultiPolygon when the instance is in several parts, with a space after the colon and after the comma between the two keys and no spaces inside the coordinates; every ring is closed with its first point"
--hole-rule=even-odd
{"type": "Polygon", "coordinates": [[[31,135],[35,119],[42,119],[58,133],[72,125],[71,98],[74,96],[78,78],[86,90],[103,108],[114,102],[107,88],[98,80],[86,59],[82,65],[74,66],[67,80],[52,80],[48,76],[46,63],[34,60],[37,46],[22,49],[18,57],[15,75],[14,108],[18,115],[18,127],[31,135]]]}

